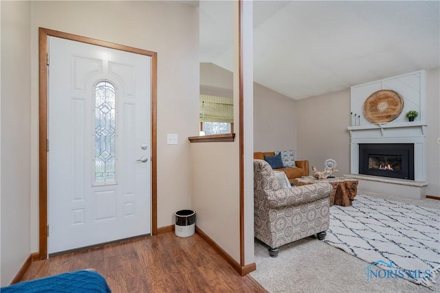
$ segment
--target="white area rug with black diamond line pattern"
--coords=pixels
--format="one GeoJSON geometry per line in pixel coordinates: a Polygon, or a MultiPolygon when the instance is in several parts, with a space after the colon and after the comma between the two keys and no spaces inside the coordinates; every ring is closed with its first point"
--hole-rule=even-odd
{"type": "Polygon", "coordinates": [[[431,287],[440,272],[440,211],[358,195],[332,206],[324,240],[364,261],[367,279],[401,277],[431,287]]]}

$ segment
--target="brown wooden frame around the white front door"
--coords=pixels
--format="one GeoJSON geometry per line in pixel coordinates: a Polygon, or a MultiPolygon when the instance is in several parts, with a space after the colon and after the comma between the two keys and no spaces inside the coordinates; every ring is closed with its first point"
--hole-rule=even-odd
{"type": "Polygon", "coordinates": [[[98,45],[151,57],[151,235],[157,235],[157,53],[39,27],[39,259],[47,259],[47,38],[98,45]]]}

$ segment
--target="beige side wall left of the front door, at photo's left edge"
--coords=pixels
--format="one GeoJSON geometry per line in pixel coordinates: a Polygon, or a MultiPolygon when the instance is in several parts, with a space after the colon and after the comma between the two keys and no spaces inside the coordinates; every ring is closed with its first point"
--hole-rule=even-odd
{"type": "Polygon", "coordinates": [[[1,1],[1,286],[30,250],[29,1],[1,1]]]}

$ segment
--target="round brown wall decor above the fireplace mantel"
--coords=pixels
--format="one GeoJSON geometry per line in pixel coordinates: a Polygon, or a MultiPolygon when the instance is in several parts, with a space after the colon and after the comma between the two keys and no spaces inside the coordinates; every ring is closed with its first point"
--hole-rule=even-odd
{"type": "Polygon", "coordinates": [[[400,115],[404,99],[388,89],[372,93],[364,102],[364,116],[373,123],[390,122],[400,115]]]}

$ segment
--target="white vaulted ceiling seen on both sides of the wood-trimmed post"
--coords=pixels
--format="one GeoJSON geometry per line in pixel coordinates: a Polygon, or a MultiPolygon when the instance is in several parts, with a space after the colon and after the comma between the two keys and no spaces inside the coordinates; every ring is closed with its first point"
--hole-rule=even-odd
{"type": "MultiPolygon", "coordinates": [[[[200,62],[232,71],[232,1],[200,1],[200,62]]],[[[254,1],[254,81],[292,99],[440,66],[440,1],[254,1]]]]}

